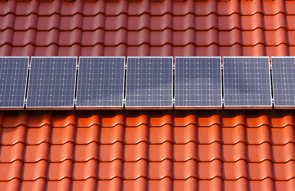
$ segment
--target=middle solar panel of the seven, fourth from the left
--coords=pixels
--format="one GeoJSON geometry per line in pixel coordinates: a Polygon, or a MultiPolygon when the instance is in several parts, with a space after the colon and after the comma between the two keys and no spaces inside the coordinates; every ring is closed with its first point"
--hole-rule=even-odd
{"type": "Polygon", "coordinates": [[[173,57],[127,57],[126,109],[172,109],[173,57]]]}

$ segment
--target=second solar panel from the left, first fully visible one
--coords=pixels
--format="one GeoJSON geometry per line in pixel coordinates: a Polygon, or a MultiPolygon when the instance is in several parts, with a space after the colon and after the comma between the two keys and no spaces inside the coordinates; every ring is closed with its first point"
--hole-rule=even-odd
{"type": "Polygon", "coordinates": [[[77,57],[32,57],[27,109],[74,109],[77,57]]]}

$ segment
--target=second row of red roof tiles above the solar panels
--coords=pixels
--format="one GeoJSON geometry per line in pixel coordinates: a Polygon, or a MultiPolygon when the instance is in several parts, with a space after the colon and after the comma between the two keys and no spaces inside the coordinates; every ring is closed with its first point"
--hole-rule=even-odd
{"type": "Polygon", "coordinates": [[[35,46],[48,46],[50,44],[58,44],[58,46],[71,46],[73,44],[81,44],[81,46],[94,46],[96,44],[104,46],[118,46],[120,44],[127,44],[127,46],[140,46],[142,44],[148,46],[163,46],[165,44],[172,44],[172,46],[185,46],[187,44],[194,46],[209,46],[210,44],[218,44],[219,46],[232,46],[233,44],[277,46],[288,44],[288,46],[291,46],[295,44],[295,30],[286,31],[283,28],[275,31],[263,31],[262,29],[253,31],[240,31],[239,29],[230,31],[218,31],[217,29],[208,31],[195,31],[194,29],[187,29],[186,31],[172,31],[171,29],[163,31],[149,31],[148,29],[140,31],[127,31],[126,29],[119,29],[118,31],[104,31],[103,29],[95,31],[81,31],[81,29],[74,29],[73,31],[58,31],[58,29],[12,31],[12,29],[6,29],[0,31],[0,35],[3,36],[0,46],[4,44],[12,44],[12,46],[25,46],[27,44],[35,46]]]}

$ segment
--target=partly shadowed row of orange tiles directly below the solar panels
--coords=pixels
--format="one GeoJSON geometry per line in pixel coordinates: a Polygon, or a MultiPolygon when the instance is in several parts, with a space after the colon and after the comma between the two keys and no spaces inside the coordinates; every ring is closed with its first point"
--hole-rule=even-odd
{"type": "Polygon", "coordinates": [[[222,127],[270,127],[294,126],[293,110],[67,110],[67,111],[4,111],[0,113],[1,127],[137,127],[147,124],[149,127],[161,127],[171,124],[173,127],[185,127],[196,124],[209,127],[220,124],[222,127]]]}

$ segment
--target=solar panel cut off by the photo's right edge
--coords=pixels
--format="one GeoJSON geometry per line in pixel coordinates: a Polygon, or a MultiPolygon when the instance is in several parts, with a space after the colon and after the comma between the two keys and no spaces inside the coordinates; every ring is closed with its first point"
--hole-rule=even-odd
{"type": "Polygon", "coordinates": [[[295,108],[295,57],[271,57],[276,109],[295,108]]]}

